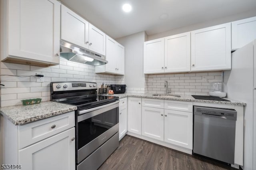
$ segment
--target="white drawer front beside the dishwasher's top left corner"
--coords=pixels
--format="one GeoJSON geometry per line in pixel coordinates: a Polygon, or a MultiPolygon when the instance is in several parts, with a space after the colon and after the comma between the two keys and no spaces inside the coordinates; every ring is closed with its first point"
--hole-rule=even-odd
{"type": "Polygon", "coordinates": [[[193,104],[192,102],[165,100],[164,109],[193,112],[193,104]]]}

